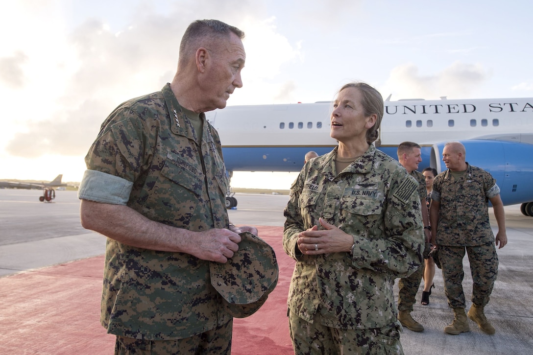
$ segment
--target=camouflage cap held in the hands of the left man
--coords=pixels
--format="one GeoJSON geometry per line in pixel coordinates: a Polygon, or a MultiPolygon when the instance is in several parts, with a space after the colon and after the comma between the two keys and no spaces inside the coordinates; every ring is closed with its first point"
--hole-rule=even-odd
{"type": "Polygon", "coordinates": [[[226,263],[209,263],[211,284],[225,310],[236,318],[251,316],[278,283],[274,249],[250,232],[239,233],[239,250],[226,263]]]}

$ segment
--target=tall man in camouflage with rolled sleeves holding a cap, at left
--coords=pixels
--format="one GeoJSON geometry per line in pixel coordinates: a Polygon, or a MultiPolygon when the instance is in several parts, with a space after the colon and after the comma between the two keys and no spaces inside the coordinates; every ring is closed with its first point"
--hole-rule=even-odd
{"type": "Polygon", "coordinates": [[[204,112],[243,85],[242,38],[217,20],[192,22],[172,83],[120,104],[86,156],[80,213],[108,237],[101,324],[117,354],[231,351],[209,262],[227,262],[240,229],[229,225],[220,139],[204,112]]]}

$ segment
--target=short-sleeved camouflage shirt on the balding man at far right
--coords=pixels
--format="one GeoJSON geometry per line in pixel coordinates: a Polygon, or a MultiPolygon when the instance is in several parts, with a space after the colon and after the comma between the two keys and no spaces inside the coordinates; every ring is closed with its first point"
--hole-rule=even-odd
{"type": "Polygon", "coordinates": [[[470,164],[458,181],[449,170],[437,175],[431,191],[431,199],[440,201],[437,245],[474,246],[494,241],[488,199],[499,191],[490,173],[470,164]]]}

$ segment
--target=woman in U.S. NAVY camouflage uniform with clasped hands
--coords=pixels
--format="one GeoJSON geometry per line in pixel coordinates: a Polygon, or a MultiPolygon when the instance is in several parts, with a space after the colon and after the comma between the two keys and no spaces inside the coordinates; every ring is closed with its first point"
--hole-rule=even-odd
{"type": "Polygon", "coordinates": [[[333,107],[338,146],[304,165],[284,211],[294,351],[401,354],[393,285],[422,263],[418,183],[372,146],[383,117],[373,87],[346,84],[333,107]]]}

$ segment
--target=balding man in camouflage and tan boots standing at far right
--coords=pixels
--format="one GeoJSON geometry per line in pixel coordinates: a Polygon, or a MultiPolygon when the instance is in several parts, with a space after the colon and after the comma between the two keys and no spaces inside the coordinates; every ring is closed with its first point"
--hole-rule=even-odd
{"type": "Polygon", "coordinates": [[[459,142],[447,143],[442,160],[448,170],[433,180],[430,221],[432,243],[438,246],[448,305],[454,310],[449,334],[469,332],[463,292],[463,258],[468,253],[472,272],[472,306],[468,318],[487,334],[495,329],[484,314],[498,273],[496,245],[507,244],[505,212],[499,187],[490,173],[465,161],[466,150],[459,142]],[[489,223],[488,201],[498,224],[496,243],[489,223]]]}

